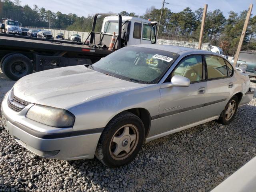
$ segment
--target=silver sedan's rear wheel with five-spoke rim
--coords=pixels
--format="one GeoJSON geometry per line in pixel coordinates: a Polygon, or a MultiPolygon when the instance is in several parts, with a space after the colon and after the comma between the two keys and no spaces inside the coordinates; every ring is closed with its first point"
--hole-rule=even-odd
{"type": "Polygon", "coordinates": [[[220,114],[220,118],[217,120],[218,123],[223,125],[228,125],[232,120],[234,119],[234,116],[236,115],[236,111],[238,109],[238,97],[233,96],[229,101],[228,104],[226,104],[225,109],[220,114]],[[234,104],[234,108],[231,106],[234,104]],[[232,114],[231,116],[229,116],[232,114]]]}

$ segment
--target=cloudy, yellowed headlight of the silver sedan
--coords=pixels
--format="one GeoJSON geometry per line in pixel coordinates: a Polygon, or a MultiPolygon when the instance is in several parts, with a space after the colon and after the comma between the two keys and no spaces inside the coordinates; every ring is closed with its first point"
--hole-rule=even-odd
{"type": "Polygon", "coordinates": [[[53,127],[72,127],[75,121],[74,115],[67,110],[42,105],[33,105],[26,117],[53,127]]]}

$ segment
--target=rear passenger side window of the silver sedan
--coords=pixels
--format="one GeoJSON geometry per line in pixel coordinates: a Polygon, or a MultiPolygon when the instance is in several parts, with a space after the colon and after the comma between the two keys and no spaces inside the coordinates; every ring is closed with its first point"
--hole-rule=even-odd
{"type": "Polygon", "coordinates": [[[228,76],[224,59],[213,55],[206,55],[205,59],[208,79],[224,78],[228,76]]]}

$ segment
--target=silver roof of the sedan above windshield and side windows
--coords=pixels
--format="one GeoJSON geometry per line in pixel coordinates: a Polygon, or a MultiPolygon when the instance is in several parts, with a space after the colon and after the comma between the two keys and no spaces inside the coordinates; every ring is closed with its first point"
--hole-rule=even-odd
{"type": "Polygon", "coordinates": [[[173,45],[158,45],[158,44],[139,44],[139,45],[132,45],[135,47],[144,47],[144,48],[151,48],[151,49],[157,49],[157,50],[163,50],[163,51],[168,51],[168,52],[174,52],[174,53],[180,53],[180,52],[185,52],[187,54],[193,54],[196,52],[196,54],[213,54],[213,55],[220,55],[216,54],[211,51],[205,51],[205,50],[200,50],[200,49],[194,49],[194,48],[188,48],[188,47],[181,47],[181,46],[173,46],[173,45]]]}

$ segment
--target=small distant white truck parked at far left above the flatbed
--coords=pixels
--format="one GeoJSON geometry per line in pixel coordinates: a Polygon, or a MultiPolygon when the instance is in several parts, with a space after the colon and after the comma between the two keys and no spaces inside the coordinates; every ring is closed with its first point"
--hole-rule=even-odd
{"type": "Polygon", "coordinates": [[[22,29],[20,28],[20,23],[18,21],[13,21],[11,19],[2,19],[1,33],[22,35],[22,29]]]}

